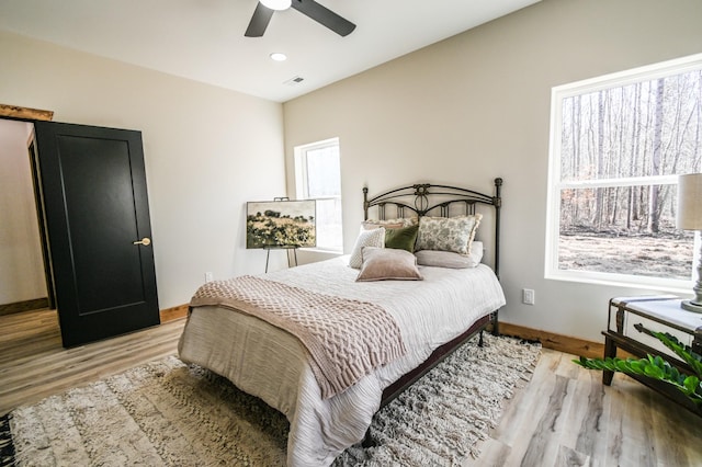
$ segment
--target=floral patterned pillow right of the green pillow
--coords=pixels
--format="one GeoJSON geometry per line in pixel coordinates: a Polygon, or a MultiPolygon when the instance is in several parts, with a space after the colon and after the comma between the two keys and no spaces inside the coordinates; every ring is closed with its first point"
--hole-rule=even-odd
{"type": "Polygon", "coordinates": [[[453,251],[468,254],[482,214],[457,217],[422,217],[415,250],[453,251]]]}

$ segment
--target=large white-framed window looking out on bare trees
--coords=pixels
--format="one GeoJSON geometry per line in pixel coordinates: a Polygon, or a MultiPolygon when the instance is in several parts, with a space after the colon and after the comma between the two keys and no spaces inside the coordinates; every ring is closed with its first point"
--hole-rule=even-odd
{"type": "Polygon", "coordinates": [[[675,217],[677,175],[702,171],[702,55],[554,88],[550,158],[546,277],[690,287],[700,240],[675,217]]]}

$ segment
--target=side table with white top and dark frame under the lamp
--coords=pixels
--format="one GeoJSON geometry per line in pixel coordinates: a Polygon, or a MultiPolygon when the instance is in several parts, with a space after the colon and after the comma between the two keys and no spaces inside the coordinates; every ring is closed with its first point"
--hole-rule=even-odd
{"type": "MultiPolygon", "coordinates": [[[[680,372],[692,374],[690,366],[652,335],[641,331],[668,332],[683,344],[702,354],[702,314],[680,308],[681,299],[672,295],[616,297],[609,303],[608,327],[604,335],[604,357],[615,357],[622,349],[639,358],[659,355],[680,372]]],[[[613,372],[602,373],[602,383],[612,384],[613,372]]],[[[669,397],[694,413],[702,415],[702,408],[692,403],[682,392],[667,383],[630,375],[639,383],[669,397]]]]}

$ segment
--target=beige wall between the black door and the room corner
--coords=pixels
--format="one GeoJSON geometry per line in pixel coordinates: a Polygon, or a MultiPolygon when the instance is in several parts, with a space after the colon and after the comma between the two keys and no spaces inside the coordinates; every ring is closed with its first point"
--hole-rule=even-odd
{"type": "Polygon", "coordinates": [[[263,272],[245,208],[285,193],[281,104],[2,32],[0,62],[0,103],[143,133],[161,308],[207,271],[263,272]]]}

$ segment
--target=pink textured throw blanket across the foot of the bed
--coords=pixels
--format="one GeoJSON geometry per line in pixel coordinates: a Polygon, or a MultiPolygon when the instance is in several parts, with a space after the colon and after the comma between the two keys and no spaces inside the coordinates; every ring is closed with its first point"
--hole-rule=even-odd
{"type": "Polygon", "coordinates": [[[295,335],[309,352],[322,399],[406,352],[395,319],[382,307],[240,276],[204,284],[190,307],[236,309],[295,335]]]}

